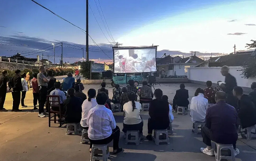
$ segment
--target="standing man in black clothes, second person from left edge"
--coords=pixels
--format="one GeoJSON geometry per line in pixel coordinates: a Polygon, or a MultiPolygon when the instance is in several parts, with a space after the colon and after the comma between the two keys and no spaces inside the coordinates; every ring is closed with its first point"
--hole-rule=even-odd
{"type": "Polygon", "coordinates": [[[15,70],[15,74],[12,76],[11,81],[8,83],[10,91],[12,91],[12,111],[19,112],[22,110],[19,110],[19,106],[21,103],[21,91],[23,91],[22,88],[22,82],[21,82],[21,70],[17,69],[15,70]]]}

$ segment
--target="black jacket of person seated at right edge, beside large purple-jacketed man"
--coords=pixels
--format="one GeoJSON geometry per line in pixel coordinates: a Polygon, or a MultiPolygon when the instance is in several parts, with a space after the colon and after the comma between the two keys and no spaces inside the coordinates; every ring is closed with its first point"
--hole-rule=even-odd
{"type": "Polygon", "coordinates": [[[238,100],[238,117],[243,128],[256,125],[256,107],[251,96],[243,94],[238,100]]]}

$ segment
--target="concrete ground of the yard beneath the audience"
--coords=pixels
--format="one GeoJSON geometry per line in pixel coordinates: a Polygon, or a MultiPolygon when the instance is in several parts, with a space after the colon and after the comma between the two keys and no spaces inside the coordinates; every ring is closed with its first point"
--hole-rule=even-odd
{"type": "MultiPolygon", "coordinates": [[[[98,89],[99,85],[84,85],[86,93],[88,89],[98,89]]],[[[194,95],[196,84],[186,84],[189,90],[189,99],[194,95]]],[[[155,88],[163,90],[163,94],[172,100],[179,84],[161,84],[155,88]]],[[[112,98],[112,87],[107,87],[109,97],[112,98]]],[[[32,91],[27,93],[25,104],[32,106],[32,91]]],[[[12,95],[7,93],[5,108],[12,108],[12,95]]],[[[20,108],[22,109],[22,108],[20,108]]],[[[1,112],[0,113],[0,161],[89,161],[89,145],[80,144],[80,136],[65,135],[66,128],[48,127],[48,118],[37,117],[37,110],[31,111],[32,107],[24,112],[1,112]],[[29,110],[30,109],[30,110],[29,110]]],[[[115,113],[117,126],[122,129],[122,113],[115,113]]],[[[141,112],[144,121],[143,133],[147,135],[148,112],[141,112]]],[[[176,115],[173,123],[174,135],[170,137],[170,144],[155,145],[153,141],[144,138],[140,145],[126,145],[123,132],[120,134],[119,145],[124,149],[118,155],[110,155],[111,161],[215,161],[214,157],[200,152],[205,147],[201,135],[195,135],[191,131],[192,122],[189,115],[176,115]]],[[[236,161],[255,161],[256,139],[239,139],[237,148],[240,154],[236,161]]],[[[110,148],[110,151],[113,149],[110,148]]]]}

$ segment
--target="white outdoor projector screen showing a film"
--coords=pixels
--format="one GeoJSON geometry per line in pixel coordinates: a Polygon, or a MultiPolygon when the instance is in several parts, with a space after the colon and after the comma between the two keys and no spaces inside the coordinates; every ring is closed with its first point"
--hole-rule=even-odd
{"type": "Polygon", "coordinates": [[[157,46],[113,47],[114,73],[156,71],[157,46]]]}

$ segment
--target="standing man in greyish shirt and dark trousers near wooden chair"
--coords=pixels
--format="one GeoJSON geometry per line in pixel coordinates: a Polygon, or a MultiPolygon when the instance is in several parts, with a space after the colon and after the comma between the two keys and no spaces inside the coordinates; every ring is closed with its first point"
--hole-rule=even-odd
{"type": "Polygon", "coordinates": [[[48,80],[44,75],[46,69],[44,66],[39,67],[39,73],[37,74],[37,83],[39,86],[39,114],[38,117],[45,117],[45,103],[47,99],[47,86],[48,80]]]}

